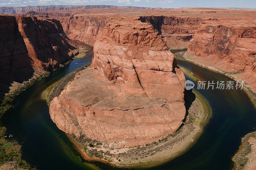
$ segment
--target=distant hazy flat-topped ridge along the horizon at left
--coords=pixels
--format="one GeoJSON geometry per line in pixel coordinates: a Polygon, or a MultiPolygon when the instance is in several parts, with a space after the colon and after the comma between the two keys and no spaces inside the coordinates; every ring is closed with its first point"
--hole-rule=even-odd
{"type": "Polygon", "coordinates": [[[24,6],[24,7],[0,7],[1,14],[21,14],[28,11],[56,11],[92,8],[121,8],[121,9],[146,9],[146,7],[136,6],[113,6],[113,5],[49,5],[49,6],[24,6]]]}

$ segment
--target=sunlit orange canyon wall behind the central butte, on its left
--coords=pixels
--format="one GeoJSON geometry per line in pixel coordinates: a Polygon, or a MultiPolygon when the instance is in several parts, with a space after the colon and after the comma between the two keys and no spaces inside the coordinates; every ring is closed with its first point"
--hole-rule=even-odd
{"type": "Polygon", "coordinates": [[[64,32],[70,39],[84,41],[94,45],[97,34],[108,23],[103,16],[74,15],[73,17],[58,18],[64,32]]]}

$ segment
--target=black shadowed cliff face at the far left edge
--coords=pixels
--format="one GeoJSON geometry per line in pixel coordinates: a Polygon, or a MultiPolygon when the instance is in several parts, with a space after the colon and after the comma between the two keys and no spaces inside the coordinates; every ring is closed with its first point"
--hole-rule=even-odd
{"type": "Polygon", "coordinates": [[[34,75],[33,61],[13,16],[2,16],[0,20],[0,102],[5,93],[34,75]]]}

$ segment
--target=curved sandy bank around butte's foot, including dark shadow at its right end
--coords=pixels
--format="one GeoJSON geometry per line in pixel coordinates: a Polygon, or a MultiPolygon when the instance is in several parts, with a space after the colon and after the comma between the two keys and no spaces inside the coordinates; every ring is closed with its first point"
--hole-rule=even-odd
{"type": "MultiPolygon", "coordinates": [[[[75,72],[77,73],[77,71],[74,71],[74,73],[75,72]]],[[[56,87],[60,84],[62,84],[61,89],[65,88],[66,85],[64,85],[63,82],[68,83],[68,81],[73,78],[73,75],[71,75],[72,78],[68,79],[68,81],[65,79],[70,77],[70,75],[60,80],[59,83],[54,84],[55,87],[49,88],[55,88],[56,90],[56,87]]],[[[45,91],[48,93],[48,97],[49,93],[52,93],[47,89],[45,91]]],[[[203,125],[210,115],[210,108],[199,93],[187,91],[185,100],[187,116],[184,125],[174,135],[168,135],[158,142],[144,146],[115,148],[106,147],[104,143],[91,140],[93,146],[90,147],[88,142],[83,143],[72,135],[70,135],[70,137],[76,142],[77,150],[83,155],[84,159],[87,160],[111,162],[112,165],[118,166],[154,166],[162,164],[164,161],[169,161],[187,151],[187,149],[196,142],[196,139],[203,131],[203,125]]]]}

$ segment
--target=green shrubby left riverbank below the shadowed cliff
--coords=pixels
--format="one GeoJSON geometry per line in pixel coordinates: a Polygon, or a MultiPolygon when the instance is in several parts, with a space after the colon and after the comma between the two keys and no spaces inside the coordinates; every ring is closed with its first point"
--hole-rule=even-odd
{"type": "MultiPolygon", "coordinates": [[[[83,53],[88,52],[87,48],[86,49],[82,49],[83,53]]],[[[76,56],[76,55],[75,55],[76,56]]],[[[44,71],[43,73],[41,72],[35,72],[34,76],[32,78],[30,78],[28,81],[24,81],[23,83],[13,83],[10,87],[10,91],[5,94],[4,99],[1,100],[1,108],[0,108],[0,141],[1,141],[1,145],[0,145],[0,149],[1,152],[0,154],[3,155],[2,159],[4,159],[5,161],[2,162],[2,159],[0,160],[0,169],[1,168],[8,168],[8,169],[16,169],[16,168],[24,168],[24,169],[35,169],[35,167],[33,168],[30,164],[27,163],[27,161],[22,159],[22,153],[21,153],[21,144],[19,144],[16,140],[14,140],[12,138],[12,135],[10,134],[9,137],[6,134],[6,127],[2,124],[1,122],[1,118],[4,114],[6,114],[6,112],[13,107],[13,100],[15,100],[22,92],[26,91],[29,87],[31,87],[32,85],[34,85],[36,82],[48,77],[52,72],[65,67],[67,64],[71,63],[74,59],[73,59],[62,63],[59,65],[58,68],[53,69],[51,72],[49,71],[44,71]],[[2,145],[8,145],[10,146],[10,148],[8,150],[6,150],[6,148],[2,148],[2,145]],[[16,156],[13,157],[12,154],[13,152],[17,152],[16,156]]],[[[4,147],[4,146],[3,146],[4,147]]]]}

